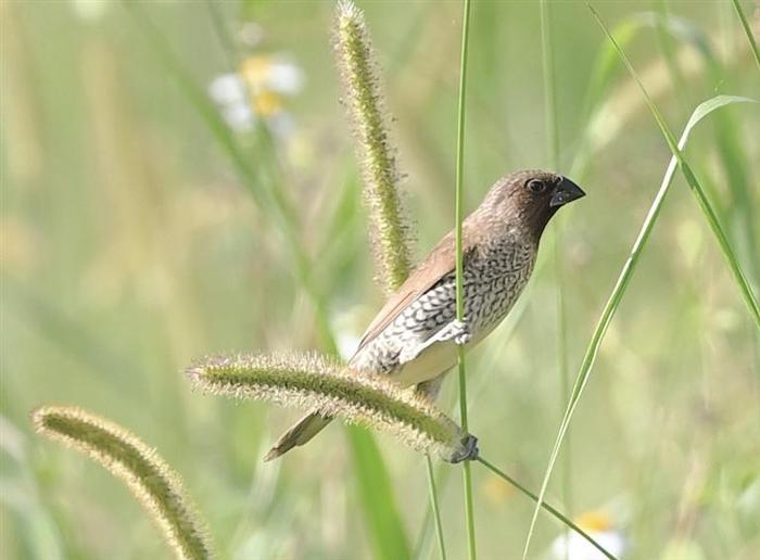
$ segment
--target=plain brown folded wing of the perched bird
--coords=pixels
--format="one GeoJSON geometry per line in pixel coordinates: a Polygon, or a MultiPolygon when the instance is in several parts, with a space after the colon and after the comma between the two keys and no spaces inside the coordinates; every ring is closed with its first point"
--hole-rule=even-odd
{"type": "MultiPolygon", "coordinates": [[[[468,237],[463,240],[464,258],[467,260],[472,253],[472,245],[468,243],[468,237]]],[[[406,281],[385,303],[384,307],[375,317],[372,322],[367,327],[367,331],[362,336],[359,345],[356,348],[358,354],[364,346],[375,336],[381,333],[393,319],[417,297],[430,290],[435,282],[444,276],[454,271],[456,251],[454,245],[454,232],[448,232],[428,256],[411,271],[406,281]]]]}

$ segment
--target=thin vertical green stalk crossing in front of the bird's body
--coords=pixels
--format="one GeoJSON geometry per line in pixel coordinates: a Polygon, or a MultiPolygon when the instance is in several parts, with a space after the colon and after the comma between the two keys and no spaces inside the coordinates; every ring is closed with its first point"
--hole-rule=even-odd
{"type": "MultiPolygon", "coordinates": [[[[459,101],[457,107],[456,186],[455,186],[455,250],[456,250],[456,317],[465,320],[465,269],[461,245],[461,221],[464,219],[463,180],[465,175],[465,102],[467,99],[467,51],[470,33],[470,0],[464,0],[461,18],[461,53],[459,61],[459,101]]],[[[461,429],[467,431],[467,378],[465,348],[457,346],[457,371],[459,374],[459,413],[461,429]]],[[[472,504],[472,472],[470,462],[463,463],[465,485],[465,520],[467,523],[467,550],[470,560],[478,558],[474,534],[474,508],[472,504]]]]}

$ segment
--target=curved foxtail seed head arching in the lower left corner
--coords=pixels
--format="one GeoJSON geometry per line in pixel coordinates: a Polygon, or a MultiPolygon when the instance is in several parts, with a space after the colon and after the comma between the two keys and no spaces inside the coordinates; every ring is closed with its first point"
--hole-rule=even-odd
{"type": "Polygon", "coordinates": [[[126,482],[178,559],[214,558],[205,527],[179,476],[135,434],[72,406],[37,408],[31,420],[38,433],[83,451],[126,482]]]}

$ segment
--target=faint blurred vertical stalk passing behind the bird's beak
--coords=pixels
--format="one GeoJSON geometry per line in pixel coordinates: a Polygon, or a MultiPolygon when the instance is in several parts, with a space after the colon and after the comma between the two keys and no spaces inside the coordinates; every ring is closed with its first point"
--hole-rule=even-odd
{"type": "MultiPolygon", "coordinates": [[[[552,13],[550,4],[547,0],[541,0],[541,53],[542,67],[544,73],[544,115],[546,124],[546,154],[549,167],[553,170],[559,169],[559,128],[557,117],[557,90],[555,85],[554,65],[554,41],[552,36],[552,13]]],[[[560,415],[565,410],[565,403],[570,397],[570,380],[568,371],[568,335],[567,335],[567,306],[565,304],[565,273],[562,270],[562,230],[561,222],[554,226],[554,268],[556,279],[556,302],[557,302],[557,374],[559,376],[560,415]]],[[[566,443],[562,495],[565,507],[572,513],[572,464],[570,454],[570,438],[566,443]]],[[[570,555],[570,539],[566,539],[565,558],[570,555]]]]}

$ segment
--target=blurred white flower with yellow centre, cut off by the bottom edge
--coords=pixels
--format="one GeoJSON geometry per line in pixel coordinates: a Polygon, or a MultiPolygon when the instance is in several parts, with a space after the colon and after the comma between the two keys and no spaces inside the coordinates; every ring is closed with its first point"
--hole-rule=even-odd
{"type": "MultiPolygon", "coordinates": [[[[612,556],[620,558],[625,550],[623,534],[612,526],[606,513],[583,513],[575,523],[612,556]]],[[[572,530],[554,539],[549,556],[554,560],[606,560],[605,555],[572,530]]]]}

